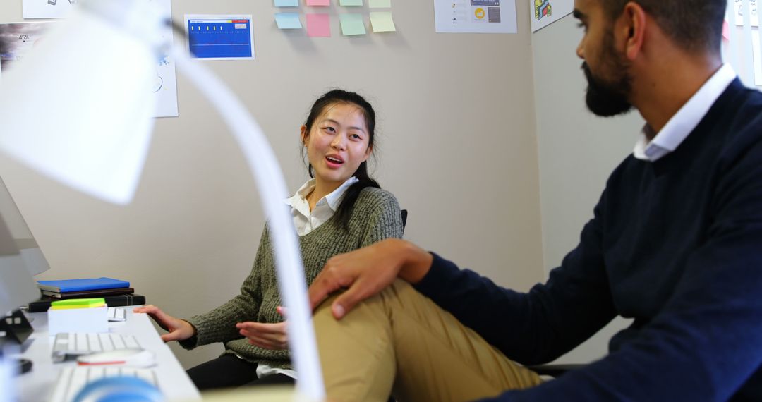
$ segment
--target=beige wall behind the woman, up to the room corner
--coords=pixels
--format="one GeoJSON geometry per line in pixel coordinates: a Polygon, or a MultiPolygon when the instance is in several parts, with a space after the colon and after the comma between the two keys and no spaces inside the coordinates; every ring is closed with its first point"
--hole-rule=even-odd
{"type": "MultiPolygon", "coordinates": [[[[298,129],[312,101],[335,86],[360,91],[379,115],[376,176],[410,212],[406,237],[504,286],[524,290],[543,279],[527,19],[516,35],[436,34],[431,1],[398,1],[397,33],[339,37],[333,18],[334,37],[311,39],[277,30],[270,0],[173,3],[175,21],[254,15],[257,59],[209,65],[267,132],[291,190],[306,179],[298,129]]],[[[526,3],[518,2],[519,16],[526,3]]],[[[0,22],[11,21],[22,21],[20,0],[0,2],[0,22]]],[[[53,267],[43,279],[127,279],[181,317],[238,292],[264,223],[258,196],[226,127],[182,76],[178,98],[180,117],[156,122],[129,206],[0,161],[53,267]]],[[[186,367],[221,350],[173,347],[186,367]]]]}

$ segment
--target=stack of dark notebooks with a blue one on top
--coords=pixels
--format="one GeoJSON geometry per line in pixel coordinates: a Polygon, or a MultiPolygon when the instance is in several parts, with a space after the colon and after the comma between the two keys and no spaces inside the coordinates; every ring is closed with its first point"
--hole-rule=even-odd
{"type": "Polygon", "coordinates": [[[120,279],[93,278],[37,281],[37,287],[42,291],[43,297],[40,298],[40,301],[29,304],[28,311],[30,313],[47,311],[50,308],[51,302],[72,298],[102,297],[106,300],[106,304],[109,307],[146,304],[146,296],[136,295],[135,289],[130,287],[130,282],[120,279]]]}

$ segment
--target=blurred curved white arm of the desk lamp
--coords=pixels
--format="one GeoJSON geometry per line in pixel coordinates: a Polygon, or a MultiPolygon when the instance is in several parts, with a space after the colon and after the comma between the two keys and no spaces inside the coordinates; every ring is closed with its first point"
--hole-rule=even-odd
{"type": "Polygon", "coordinates": [[[307,302],[302,258],[288,206],[283,203],[288,193],[274,152],[254,118],[222,80],[202,63],[191,60],[178,46],[173,47],[171,56],[223,117],[255,177],[270,222],[280,294],[288,308],[288,343],[294,368],[299,374],[296,390],[299,397],[324,400],[325,386],[312,327],[312,311],[307,302]]]}

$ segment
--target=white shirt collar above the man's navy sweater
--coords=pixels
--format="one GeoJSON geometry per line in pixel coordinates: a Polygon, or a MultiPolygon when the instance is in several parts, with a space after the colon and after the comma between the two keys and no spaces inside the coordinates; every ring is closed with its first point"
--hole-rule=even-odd
{"type": "Polygon", "coordinates": [[[632,155],[642,161],[658,161],[664,155],[673,152],[699,125],[709,108],[717,101],[717,98],[728,88],[728,85],[735,79],[735,71],[729,64],[722,65],[709,81],[701,86],[696,94],[677,110],[677,113],[671,117],[663,129],[648,142],[648,134],[653,134],[651,126],[646,124],[632,155]]]}

